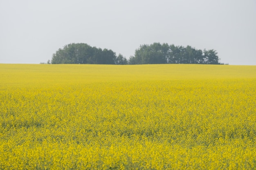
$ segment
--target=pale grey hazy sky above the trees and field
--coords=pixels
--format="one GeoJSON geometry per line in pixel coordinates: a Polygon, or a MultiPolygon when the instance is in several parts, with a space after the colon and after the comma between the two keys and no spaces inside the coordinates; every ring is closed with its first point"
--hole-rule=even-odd
{"type": "Polygon", "coordinates": [[[126,58],[153,42],[256,65],[256,0],[0,0],[0,63],[47,62],[87,43],[126,58]]]}

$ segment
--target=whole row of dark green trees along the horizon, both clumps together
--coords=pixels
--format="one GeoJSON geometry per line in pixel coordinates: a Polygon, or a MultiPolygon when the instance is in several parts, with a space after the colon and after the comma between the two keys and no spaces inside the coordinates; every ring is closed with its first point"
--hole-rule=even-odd
{"type": "Polygon", "coordinates": [[[58,49],[47,64],[222,64],[216,50],[167,43],[140,45],[135,55],[126,57],[85,43],[72,43],[58,49]]]}

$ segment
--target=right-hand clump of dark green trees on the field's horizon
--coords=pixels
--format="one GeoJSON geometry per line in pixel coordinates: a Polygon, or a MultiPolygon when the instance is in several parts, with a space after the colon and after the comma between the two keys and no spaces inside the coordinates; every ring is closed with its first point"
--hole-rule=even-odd
{"type": "Polygon", "coordinates": [[[202,51],[159,42],[141,45],[130,60],[130,64],[220,64],[215,50],[202,51]]]}

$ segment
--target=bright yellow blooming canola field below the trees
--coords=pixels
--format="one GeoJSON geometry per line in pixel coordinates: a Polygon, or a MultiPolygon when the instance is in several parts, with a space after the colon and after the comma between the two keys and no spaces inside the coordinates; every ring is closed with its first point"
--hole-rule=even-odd
{"type": "Polygon", "coordinates": [[[256,66],[0,64],[0,169],[256,169],[256,66]]]}

